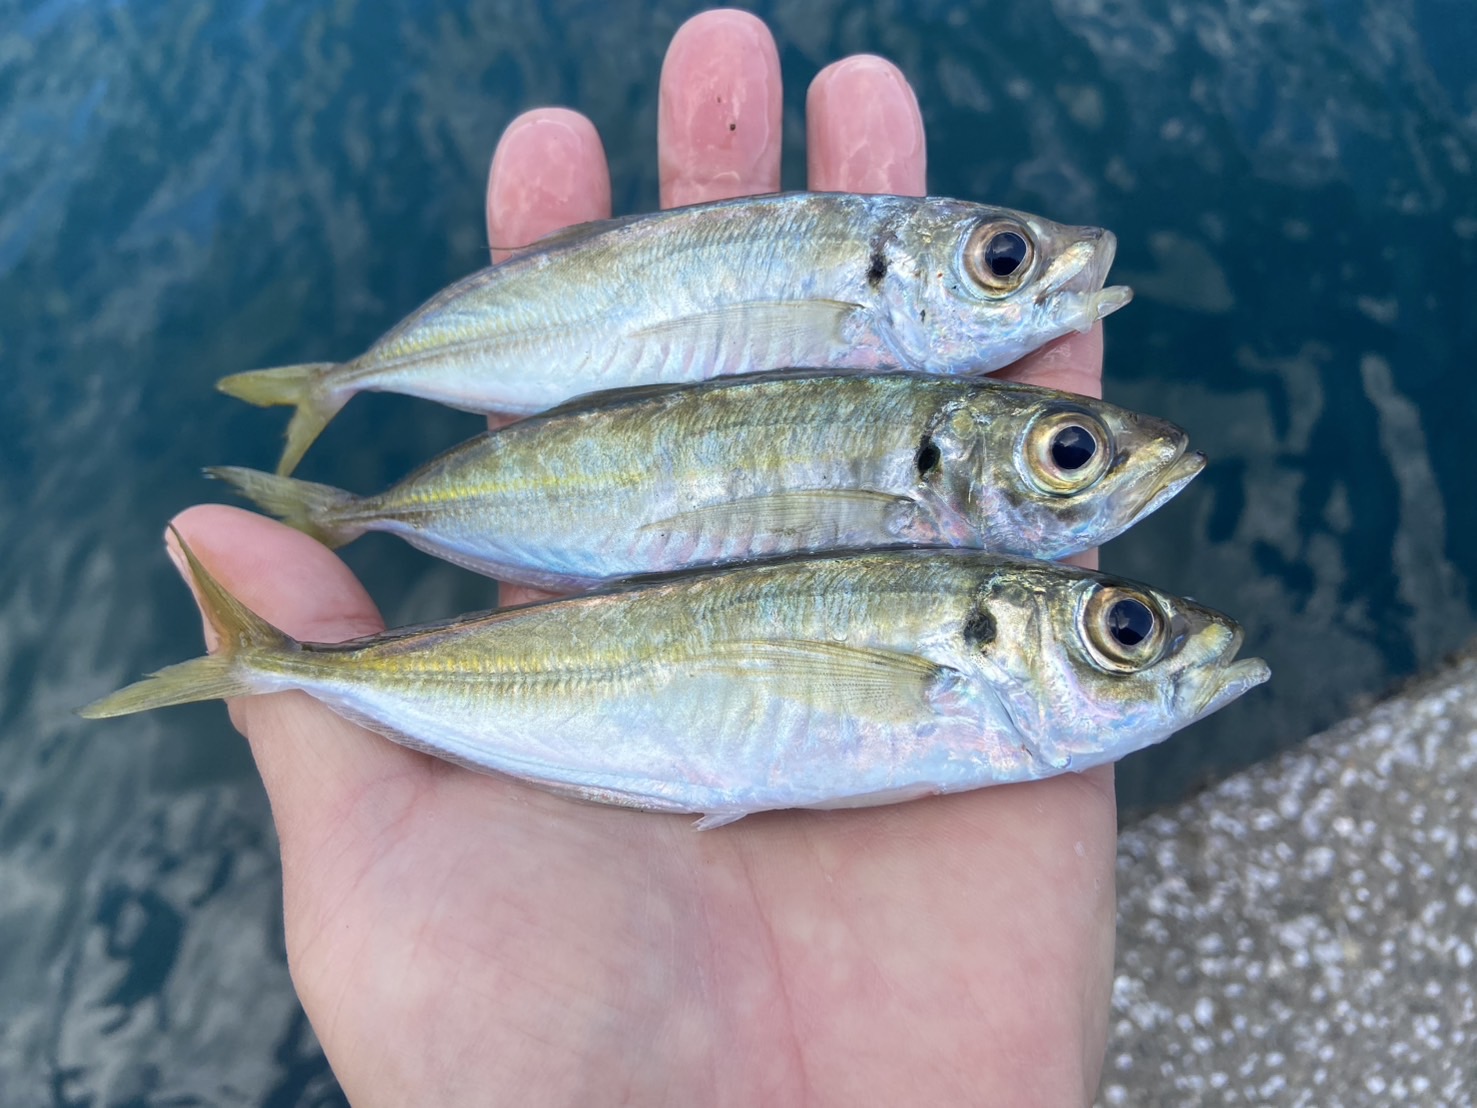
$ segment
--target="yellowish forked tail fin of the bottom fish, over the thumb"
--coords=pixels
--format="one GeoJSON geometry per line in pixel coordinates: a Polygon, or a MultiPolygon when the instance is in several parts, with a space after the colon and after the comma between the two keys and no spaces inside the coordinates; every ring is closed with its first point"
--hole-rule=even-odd
{"type": "Polygon", "coordinates": [[[185,545],[179,532],[174,532],[174,538],[185,554],[205,619],[220,637],[220,647],[214,654],[167,666],[127,688],[120,688],[102,700],[77,709],[77,714],[84,719],[108,719],[115,715],[148,712],[154,708],[254,693],[257,690],[250,681],[248,668],[244,665],[250,656],[279,653],[297,647],[292,638],[251,612],[210,576],[195,553],[185,545]]]}

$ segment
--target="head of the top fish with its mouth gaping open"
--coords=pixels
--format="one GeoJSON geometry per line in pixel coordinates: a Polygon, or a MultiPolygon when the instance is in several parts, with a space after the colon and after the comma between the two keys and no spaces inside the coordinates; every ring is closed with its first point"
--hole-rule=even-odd
{"type": "Polygon", "coordinates": [[[894,285],[894,341],[933,372],[990,372],[1087,331],[1133,297],[1103,288],[1118,241],[1010,208],[929,199],[899,230],[916,279],[894,285]]]}

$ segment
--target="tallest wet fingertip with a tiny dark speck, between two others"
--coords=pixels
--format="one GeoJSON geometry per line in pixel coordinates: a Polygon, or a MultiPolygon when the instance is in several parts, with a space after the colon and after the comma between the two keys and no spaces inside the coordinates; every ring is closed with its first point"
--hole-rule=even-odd
{"type": "Polygon", "coordinates": [[[662,207],[780,188],[780,53],[764,22],[718,9],[682,24],[662,64],[662,207]]]}

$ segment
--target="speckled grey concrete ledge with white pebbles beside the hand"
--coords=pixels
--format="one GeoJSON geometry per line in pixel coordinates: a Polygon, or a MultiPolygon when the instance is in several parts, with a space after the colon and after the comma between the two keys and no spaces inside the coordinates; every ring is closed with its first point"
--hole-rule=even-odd
{"type": "Polygon", "coordinates": [[[1125,830],[1099,1105],[1477,1104],[1477,652],[1125,830]]]}

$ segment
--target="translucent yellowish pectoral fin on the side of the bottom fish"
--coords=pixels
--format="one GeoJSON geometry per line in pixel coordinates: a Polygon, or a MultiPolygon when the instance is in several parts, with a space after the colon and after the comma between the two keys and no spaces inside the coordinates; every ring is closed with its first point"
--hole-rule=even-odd
{"type": "Polygon", "coordinates": [[[792,640],[727,643],[699,669],[836,715],[904,722],[928,715],[931,693],[954,671],[899,650],[792,640]]]}

